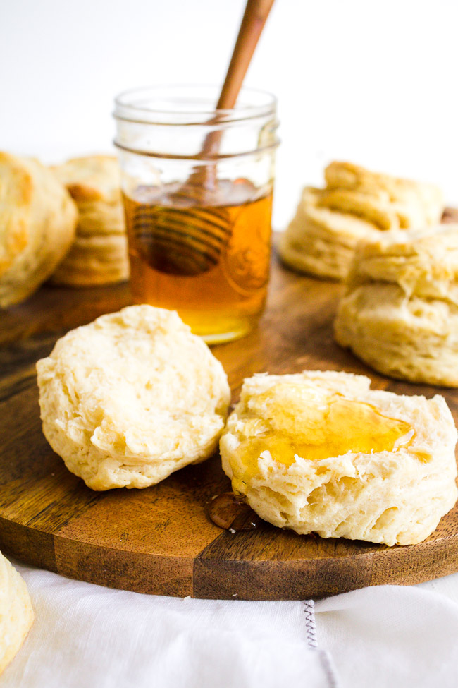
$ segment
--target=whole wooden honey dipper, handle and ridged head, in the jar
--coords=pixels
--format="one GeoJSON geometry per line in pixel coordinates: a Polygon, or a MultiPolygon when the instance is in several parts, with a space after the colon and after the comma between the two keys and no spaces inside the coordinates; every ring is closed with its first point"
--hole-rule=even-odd
{"type": "MultiPolygon", "coordinates": [[[[218,111],[233,109],[247,73],[254,49],[264,28],[273,0],[247,0],[245,13],[216,104],[216,116],[208,125],[218,123],[218,111]]],[[[201,159],[218,155],[221,129],[206,135],[201,159]]],[[[209,205],[209,195],[216,191],[216,166],[202,165],[168,198],[172,205],[158,213],[151,205],[137,205],[132,229],[151,254],[159,251],[164,271],[192,275],[207,272],[218,264],[221,251],[232,232],[230,217],[224,207],[209,205]],[[176,206],[174,207],[174,203],[176,206]],[[199,204],[203,207],[199,207],[199,204]]]]}

